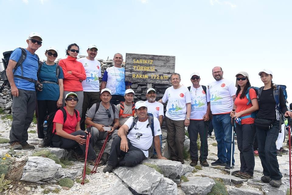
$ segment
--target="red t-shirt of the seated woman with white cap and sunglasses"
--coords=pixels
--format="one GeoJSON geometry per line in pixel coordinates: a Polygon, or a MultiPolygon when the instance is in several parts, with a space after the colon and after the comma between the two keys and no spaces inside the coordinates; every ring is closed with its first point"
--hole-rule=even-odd
{"type": "Polygon", "coordinates": [[[63,124],[63,131],[70,134],[70,133],[73,133],[75,131],[75,127],[77,126],[77,122],[80,121],[80,116],[79,116],[78,110],[77,110],[78,117],[76,118],[75,113],[73,115],[70,115],[67,111],[66,106],[64,108],[65,108],[65,111],[67,113],[67,119],[64,123],[63,112],[61,110],[58,110],[56,112],[54,120],[53,120],[53,122],[54,122],[53,133],[54,133],[54,130],[56,129],[56,122],[63,124]]]}

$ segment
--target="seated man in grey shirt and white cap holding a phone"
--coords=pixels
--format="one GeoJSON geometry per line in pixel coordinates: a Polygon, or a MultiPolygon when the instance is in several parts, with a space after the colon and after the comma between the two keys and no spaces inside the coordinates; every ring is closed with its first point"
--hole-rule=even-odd
{"type": "Polygon", "coordinates": [[[113,138],[117,136],[116,128],[119,126],[119,111],[117,110],[116,105],[109,103],[112,98],[111,93],[111,90],[108,88],[101,90],[101,102],[92,105],[87,112],[85,119],[86,125],[92,125],[94,143],[98,140],[106,139],[107,134],[110,134],[109,143],[105,147],[99,165],[106,164],[113,138]],[[97,111],[96,105],[99,105],[97,111]],[[110,127],[110,129],[107,129],[108,127],[110,127]]]}

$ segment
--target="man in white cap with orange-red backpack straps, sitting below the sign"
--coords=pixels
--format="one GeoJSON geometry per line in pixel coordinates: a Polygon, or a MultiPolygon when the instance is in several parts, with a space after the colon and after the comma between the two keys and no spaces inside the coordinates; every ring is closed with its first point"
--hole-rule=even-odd
{"type": "Polygon", "coordinates": [[[125,101],[121,101],[120,104],[116,105],[119,111],[119,128],[131,117],[135,115],[135,103],[134,100],[135,92],[132,89],[125,91],[125,101]]]}

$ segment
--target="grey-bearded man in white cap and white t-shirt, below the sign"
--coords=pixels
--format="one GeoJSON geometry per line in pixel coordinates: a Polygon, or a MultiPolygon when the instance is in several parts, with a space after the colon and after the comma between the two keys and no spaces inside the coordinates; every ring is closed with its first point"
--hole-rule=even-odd
{"type": "MultiPolygon", "coordinates": [[[[147,101],[145,101],[145,104],[147,105],[148,113],[153,114],[154,117],[156,117],[159,120],[160,128],[162,126],[164,112],[163,112],[163,104],[159,103],[156,100],[156,91],[152,87],[147,90],[146,93],[147,101]]],[[[162,135],[159,136],[160,139],[160,148],[162,147],[162,135]]],[[[155,150],[155,147],[153,147],[153,156],[151,158],[157,158],[157,153],[155,150]]]]}

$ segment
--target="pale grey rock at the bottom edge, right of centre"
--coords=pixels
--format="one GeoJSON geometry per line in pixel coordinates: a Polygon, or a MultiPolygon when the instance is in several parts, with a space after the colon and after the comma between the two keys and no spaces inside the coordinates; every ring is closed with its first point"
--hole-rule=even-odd
{"type": "Polygon", "coordinates": [[[206,195],[215,185],[213,179],[209,177],[188,177],[188,182],[181,184],[182,191],[188,194],[206,195]]]}

